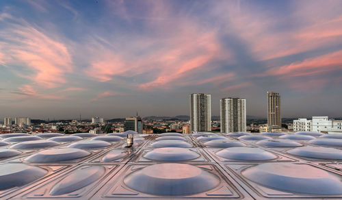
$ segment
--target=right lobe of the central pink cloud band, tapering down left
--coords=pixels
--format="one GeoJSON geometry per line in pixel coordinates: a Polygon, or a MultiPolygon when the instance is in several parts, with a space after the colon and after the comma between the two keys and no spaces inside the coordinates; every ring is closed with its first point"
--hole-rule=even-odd
{"type": "Polygon", "coordinates": [[[193,37],[187,34],[181,34],[184,38],[174,38],[170,41],[168,45],[172,49],[163,51],[163,54],[157,58],[161,64],[158,67],[158,76],[151,82],[140,84],[140,88],[148,90],[179,84],[177,83],[181,81],[179,79],[186,79],[189,71],[205,67],[209,61],[219,57],[220,45],[218,45],[214,33],[197,35],[195,38],[195,32],[191,34],[193,37]],[[185,38],[192,38],[193,40],[185,38]]]}

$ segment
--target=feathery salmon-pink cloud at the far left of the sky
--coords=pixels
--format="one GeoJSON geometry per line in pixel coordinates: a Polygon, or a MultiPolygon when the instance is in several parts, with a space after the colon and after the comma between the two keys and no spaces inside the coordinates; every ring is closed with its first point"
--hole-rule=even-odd
{"type": "Polygon", "coordinates": [[[62,42],[29,25],[12,25],[1,34],[11,42],[3,44],[5,64],[25,64],[33,75],[23,75],[44,88],[66,84],[66,73],[73,71],[68,49],[62,42]]]}

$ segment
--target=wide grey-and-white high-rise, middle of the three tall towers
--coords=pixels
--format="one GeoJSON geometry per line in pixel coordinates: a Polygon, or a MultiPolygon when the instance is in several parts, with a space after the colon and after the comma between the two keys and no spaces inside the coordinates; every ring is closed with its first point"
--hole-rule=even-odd
{"type": "Polygon", "coordinates": [[[220,99],[221,133],[246,132],[246,99],[220,99]]]}

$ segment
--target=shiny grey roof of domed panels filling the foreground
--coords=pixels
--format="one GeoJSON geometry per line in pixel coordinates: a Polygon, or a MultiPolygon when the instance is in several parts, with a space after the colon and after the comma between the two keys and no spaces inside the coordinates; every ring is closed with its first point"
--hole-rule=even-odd
{"type": "Polygon", "coordinates": [[[0,199],[342,199],[339,137],[110,135],[1,135],[0,199]]]}

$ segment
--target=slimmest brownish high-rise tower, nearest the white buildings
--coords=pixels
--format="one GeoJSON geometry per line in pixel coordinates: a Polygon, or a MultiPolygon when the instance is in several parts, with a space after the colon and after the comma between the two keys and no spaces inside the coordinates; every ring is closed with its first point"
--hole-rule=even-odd
{"type": "Polygon", "coordinates": [[[267,92],[267,125],[268,127],[281,127],[280,95],[277,92],[267,92]]]}

